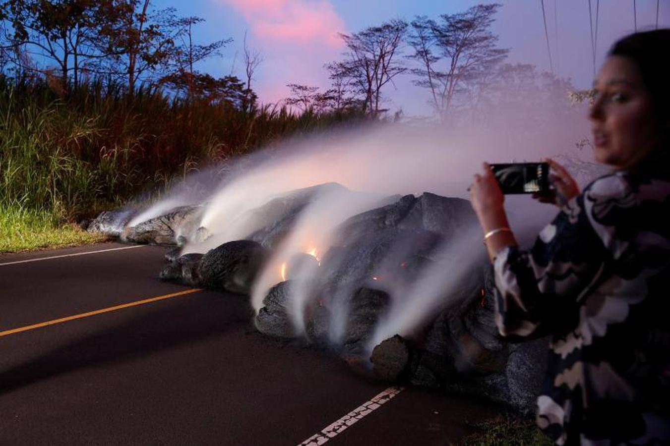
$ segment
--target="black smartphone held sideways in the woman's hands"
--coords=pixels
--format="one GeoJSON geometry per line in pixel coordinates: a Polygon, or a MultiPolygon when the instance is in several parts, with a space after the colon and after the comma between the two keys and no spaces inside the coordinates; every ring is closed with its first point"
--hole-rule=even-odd
{"type": "Polygon", "coordinates": [[[491,164],[503,194],[549,194],[549,164],[491,164]]]}

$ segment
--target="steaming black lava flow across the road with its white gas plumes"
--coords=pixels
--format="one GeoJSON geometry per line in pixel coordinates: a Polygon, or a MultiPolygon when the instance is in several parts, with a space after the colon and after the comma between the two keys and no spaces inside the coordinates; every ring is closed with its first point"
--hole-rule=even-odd
{"type": "MultiPolygon", "coordinates": [[[[263,333],[330,348],[378,378],[524,410],[541,350],[498,336],[481,229],[464,198],[481,161],[551,155],[533,151],[543,141],[546,133],[340,129],[214,167],[224,173],[201,173],[116,224],[125,240],[179,245],[163,279],[249,295],[263,333]],[[217,182],[188,185],[202,177],[217,182]]],[[[509,202],[522,233],[551,216],[527,198],[509,202]]]]}

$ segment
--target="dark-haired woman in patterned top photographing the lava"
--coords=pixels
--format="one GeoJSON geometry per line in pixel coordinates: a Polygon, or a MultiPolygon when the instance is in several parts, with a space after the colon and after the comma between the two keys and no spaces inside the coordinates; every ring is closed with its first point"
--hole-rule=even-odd
{"type": "Polygon", "coordinates": [[[580,193],[549,161],[561,212],[531,250],[488,165],[474,176],[498,329],[551,335],[537,423],[557,444],[670,443],[668,48],[670,29],[614,44],[589,114],[595,159],[613,173],[580,193]]]}

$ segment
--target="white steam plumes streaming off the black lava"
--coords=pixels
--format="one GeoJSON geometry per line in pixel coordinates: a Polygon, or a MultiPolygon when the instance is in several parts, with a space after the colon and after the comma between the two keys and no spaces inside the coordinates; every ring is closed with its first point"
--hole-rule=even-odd
{"type": "MultiPolygon", "coordinates": [[[[251,304],[258,311],[269,289],[287,275],[291,256],[327,252],[336,227],[347,218],[377,208],[385,198],[396,194],[433,192],[467,198],[472,174],[480,171],[482,161],[538,161],[569,151],[566,148],[574,147],[582,135],[582,129],[572,132],[556,129],[553,135],[544,131],[535,137],[528,132],[523,135],[507,132],[500,137],[500,133],[480,129],[446,131],[377,125],[283,143],[255,155],[253,162],[247,162],[243,174],[226,179],[204,200],[201,226],[212,236],[204,242],[191,240],[183,253],[206,252],[224,242],[247,238],[268,223],[251,211],[287,192],[329,182],[346,186],[348,190],[324,188],[316,194],[289,235],[274,250],[253,288],[251,304]],[[548,147],[547,141],[551,141],[552,147],[548,147]]],[[[180,204],[179,201],[179,195],[169,197],[143,212],[141,218],[180,204]]],[[[521,232],[536,230],[555,212],[549,206],[533,203],[527,196],[509,202],[513,203],[511,223],[521,232]]],[[[457,240],[442,246],[442,260],[423,271],[421,279],[405,289],[393,290],[392,294],[401,293],[403,299],[392,301],[371,345],[395,333],[410,332],[443,305],[441,299],[450,294],[450,287],[462,286],[464,275],[484,258],[480,237],[478,227],[460,234],[457,240]]],[[[314,292],[314,282],[310,281],[306,268],[288,273],[290,279],[295,277],[290,313],[295,330],[300,333],[305,330],[304,307],[314,292]]],[[[342,326],[346,311],[344,307],[333,311],[330,324],[333,340],[339,336],[338,327],[342,326]]]]}

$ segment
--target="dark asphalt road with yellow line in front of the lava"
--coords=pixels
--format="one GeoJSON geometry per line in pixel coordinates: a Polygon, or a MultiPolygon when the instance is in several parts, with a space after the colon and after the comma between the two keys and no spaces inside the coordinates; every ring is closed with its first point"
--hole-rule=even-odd
{"type": "Polygon", "coordinates": [[[11,331],[189,290],[157,279],[165,248],[126,247],[0,256],[0,444],[298,445],[339,420],[328,445],[448,445],[494,413],[412,388],[371,403],[387,384],[257,333],[239,295],[11,331]],[[356,408],[355,424],[342,421],[356,408]]]}

